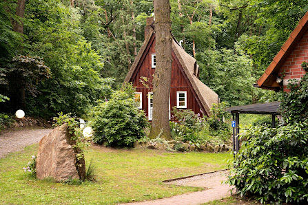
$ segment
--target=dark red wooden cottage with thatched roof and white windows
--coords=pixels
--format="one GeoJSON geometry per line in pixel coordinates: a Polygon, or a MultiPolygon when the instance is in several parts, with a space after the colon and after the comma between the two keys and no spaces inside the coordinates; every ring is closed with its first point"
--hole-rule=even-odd
{"type": "MultiPolygon", "coordinates": [[[[155,32],[153,18],[147,18],[145,41],[138,52],[125,82],[132,82],[136,87],[135,98],[140,102],[149,120],[152,120],[152,75],[156,66],[155,32]],[[150,79],[147,86],[141,83],[142,77],[150,79]]],[[[181,45],[172,41],[172,83],[170,90],[170,109],[192,109],[201,116],[210,115],[212,103],[218,103],[218,95],[198,79],[199,67],[196,60],[187,54],[181,45]]],[[[171,118],[171,114],[170,114],[171,118]]]]}

